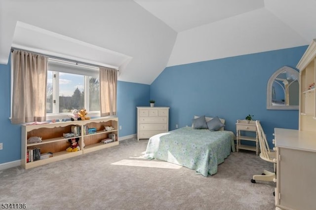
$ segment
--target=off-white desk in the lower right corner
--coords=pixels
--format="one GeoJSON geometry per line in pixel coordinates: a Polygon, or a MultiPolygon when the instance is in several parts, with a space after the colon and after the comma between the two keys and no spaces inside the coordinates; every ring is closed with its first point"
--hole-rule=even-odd
{"type": "Polygon", "coordinates": [[[316,132],[275,128],[276,209],[315,210],[316,132]]]}

